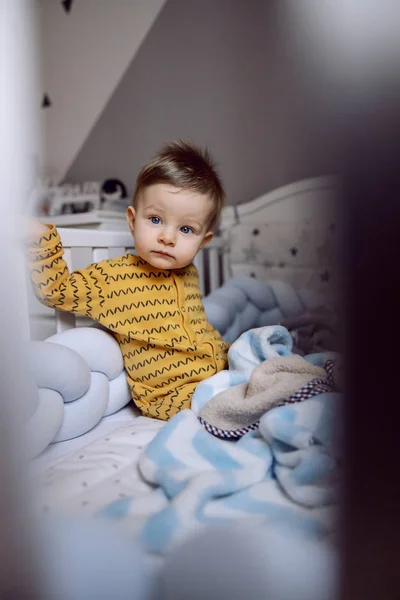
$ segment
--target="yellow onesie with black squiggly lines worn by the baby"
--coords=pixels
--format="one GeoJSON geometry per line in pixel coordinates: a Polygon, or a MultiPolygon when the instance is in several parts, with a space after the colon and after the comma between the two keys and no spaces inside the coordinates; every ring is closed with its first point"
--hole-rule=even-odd
{"type": "Polygon", "coordinates": [[[126,254],[70,274],[63,253],[55,227],[29,248],[38,299],[114,334],[144,415],[166,421],[190,408],[200,381],[227,367],[229,347],[207,321],[196,267],[160,270],[126,254]]]}

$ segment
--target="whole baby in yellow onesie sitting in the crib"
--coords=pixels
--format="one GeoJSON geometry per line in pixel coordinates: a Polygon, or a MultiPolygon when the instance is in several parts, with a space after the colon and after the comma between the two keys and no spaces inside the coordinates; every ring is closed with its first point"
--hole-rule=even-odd
{"type": "Polygon", "coordinates": [[[29,267],[47,306],[86,315],[118,341],[132,398],[149,417],[190,408],[196,386],[227,367],[193,259],[213,236],[224,191],[207,152],[173,142],[139,173],[126,218],[137,256],[69,273],[56,228],[34,223],[29,267]]]}

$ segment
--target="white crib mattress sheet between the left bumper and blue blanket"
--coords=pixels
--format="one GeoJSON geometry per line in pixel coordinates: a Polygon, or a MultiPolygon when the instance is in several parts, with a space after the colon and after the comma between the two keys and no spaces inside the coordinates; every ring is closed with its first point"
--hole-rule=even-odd
{"type": "Polygon", "coordinates": [[[137,462],[165,422],[129,419],[128,411],[119,417],[92,432],[94,441],[86,437],[85,444],[70,445],[67,455],[42,461],[40,472],[36,465],[32,497],[39,514],[95,515],[115,500],[148,491],[137,462]]]}

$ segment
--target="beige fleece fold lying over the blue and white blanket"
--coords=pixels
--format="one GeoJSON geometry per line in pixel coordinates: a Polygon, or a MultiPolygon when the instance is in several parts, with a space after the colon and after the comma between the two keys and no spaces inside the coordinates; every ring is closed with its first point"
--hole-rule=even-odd
{"type": "Polygon", "coordinates": [[[216,394],[199,416],[222,430],[248,427],[262,415],[289,398],[314,379],[323,383],[327,373],[300,356],[284,356],[263,361],[254,368],[248,383],[216,394]]]}

